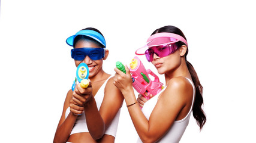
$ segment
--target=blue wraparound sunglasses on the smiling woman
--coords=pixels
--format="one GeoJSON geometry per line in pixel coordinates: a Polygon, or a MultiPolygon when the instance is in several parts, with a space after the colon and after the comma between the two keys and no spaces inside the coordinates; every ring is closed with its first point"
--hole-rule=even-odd
{"type": "Polygon", "coordinates": [[[77,61],[83,61],[86,55],[92,60],[100,60],[105,57],[105,48],[75,48],[71,49],[71,57],[77,61]]]}

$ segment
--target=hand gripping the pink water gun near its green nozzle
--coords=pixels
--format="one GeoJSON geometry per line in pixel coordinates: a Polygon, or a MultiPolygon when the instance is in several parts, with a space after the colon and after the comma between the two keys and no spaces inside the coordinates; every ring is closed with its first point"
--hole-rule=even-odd
{"type": "Polygon", "coordinates": [[[115,77],[114,77],[114,85],[122,92],[124,95],[124,92],[131,91],[132,90],[132,79],[131,74],[129,72],[129,69],[127,65],[125,65],[126,74],[123,73],[118,68],[114,69],[116,71],[115,77]]]}

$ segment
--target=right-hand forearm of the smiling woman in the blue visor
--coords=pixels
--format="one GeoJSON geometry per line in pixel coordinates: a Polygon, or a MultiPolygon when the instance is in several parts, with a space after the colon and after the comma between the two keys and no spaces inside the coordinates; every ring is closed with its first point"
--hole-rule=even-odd
{"type": "Polygon", "coordinates": [[[100,139],[105,132],[105,123],[97,108],[94,97],[92,97],[90,101],[84,105],[84,108],[89,133],[93,139],[100,139]]]}

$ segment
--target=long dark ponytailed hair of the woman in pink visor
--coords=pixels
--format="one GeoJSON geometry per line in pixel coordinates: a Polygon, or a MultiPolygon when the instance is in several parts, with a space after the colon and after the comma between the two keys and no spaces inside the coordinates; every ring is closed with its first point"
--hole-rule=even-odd
{"type": "MultiPolygon", "coordinates": [[[[180,35],[180,36],[182,36],[183,38],[186,39],[183,32],[175,26],[161,27],[159,29],[156,29],[152,33],[152,35],[155,34],[155,33],[161,33],[161,32],[174,33],[174,34],[180,35]]],[[[178,47],[180,47],[180,46],[185,45],[185,44],[183,42],[179,41],[179,42],[176,42],[176,45],[178,47]]],[[[186,50],[186,54],[184,55],[185,60],[186,60],[186,55],[188,55],[188,49],[186,50]]],[[[201,130],[203,128],[204,124],[206,123],[206,115],[205,115],[203,109],[201,108],[201,106],[203,105],[203,96],[202,96],[203,95],[203,86],[201,85],[201,83],[198,79],[197,72],[195,72],[194,67],[187,60],[186,60],[186,66],[188,67],[189,73],[191,74],[192,81],[193,81],[193,83],[195,85],[195,89],[196,89],[195,102],[194,102],[194,106],[193,106],[193,109],[192,109],[193,116],[194,116],[195,120],[197,121],[197,125],[200,127],[200,130],[201,130]]]]}

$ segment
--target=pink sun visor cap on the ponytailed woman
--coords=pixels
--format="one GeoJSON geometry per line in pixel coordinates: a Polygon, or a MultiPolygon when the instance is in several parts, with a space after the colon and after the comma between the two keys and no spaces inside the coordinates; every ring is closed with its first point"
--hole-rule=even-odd
{"type": "Polygon", "coordinates": [[[188,42],[186,42],[186,39],[180,35],[177,35],[174,33],[167,33],[167,32],[156,33],[150,36],[149,39],[147,39],[147,44],[137,49],[137,51],[135,51],[135,54],[144,55],[146,50],[150,47],[176,43],[179,41],[185,43],[185,45],[188,46],[188,42]]]}

